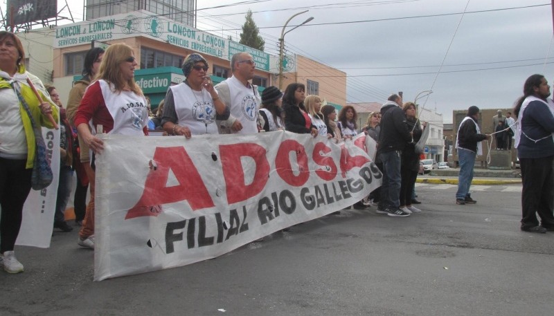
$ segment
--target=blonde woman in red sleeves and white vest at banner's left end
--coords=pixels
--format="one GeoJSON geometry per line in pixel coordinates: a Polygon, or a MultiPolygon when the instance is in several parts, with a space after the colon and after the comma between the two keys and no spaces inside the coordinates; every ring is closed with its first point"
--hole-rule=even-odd
{"type": "MultiPolygon", "coordinates": [[[[134,82],[137,62],[133,50],[126,44],[113,44],[107,48],[95,82],[84,93],[75,114],[75,126],[84,142],[100,154],[104,143],[89,130],[102,125],[103,133],[129,136],[148,135],[148,102],[143,91],[134,82]]],[[[91,196],[93,201],[93,196],[91,196]]],[[[91,202],[84,215],[79,232],[78,245],[94,248],[94,203],[91,202]]]]}

